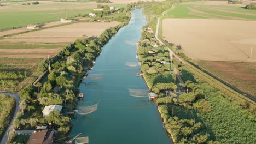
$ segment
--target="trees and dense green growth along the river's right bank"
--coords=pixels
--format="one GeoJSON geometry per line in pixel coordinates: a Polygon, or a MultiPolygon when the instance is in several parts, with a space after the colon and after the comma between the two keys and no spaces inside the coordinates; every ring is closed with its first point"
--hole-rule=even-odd
{"type": "MultiPolygon", "coordinates": [[[[148,26],[155,31],[157,17],[170,8],[172,2],[143,4],[148,26]]],[[[136,6],[137,4],[133,5],[136,6]]],[[[179,63],[176,59],[174,59],[174,65],[179,69],[185,84],[175,86],[183,87],[185,93],[176,96],[177,91],[173,85],[173,89],[169,88],[169,90],[175,93],[168,94],[170,97],[167,97],[167,105],[165,105],[166,98],[162,97],[165,96],[165,82],[166,80],[167,82],[174,82],[175,77],[172,75],[165,77],[163,80],[164,88],[162,88],[161,79],[163,77],[159,79],[159,77],[148,76],[150,73],[154,74],[154,68],[159,67],[157,66],[159,65],[157,62],[159,51],[165,50],[164,47],[155,50],[155,47],[150,46],[153,42],[155,42],[153,34],[142,32],[138,50],[139,59],[149,89],[159,95],[156,100],[158,110],[174,143],[253,143],[255,141],[256,118],[254,113],[239,105],[242,103],[238,102],[239,104],[237,104],[236,100],[238,99],[233,100],[232,98],[236,96],[232,96],[232,93],[228,93],[224,89],[218,90],[219,86],[206,81],[205,75],[197,75],[195,70],[193,71],[187,65],[179,63]],[[146,49],[145,54],[144,49],[146,49]],[[155,54],[150,55],[147,53],[148,50],[155,50],[155,54]],[[168,81],[168,79],[172,80],[168,81]]],[[[168,46],[177,55],[189,61],[181,47],[170,44],[168,46]]],[[[167,56],[167,53],[164,56],[167,56]]],[[[155,73],[162,75],[166,73],[165,70],[167,69],[163,68],[164,71],[161,71],[160,66],[157,70],[155,73]]]]}

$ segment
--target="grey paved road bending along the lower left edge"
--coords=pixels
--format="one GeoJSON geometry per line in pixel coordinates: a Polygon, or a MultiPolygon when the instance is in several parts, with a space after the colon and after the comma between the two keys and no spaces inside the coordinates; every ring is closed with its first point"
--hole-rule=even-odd
{"type": "Polygon", "coordinates": [[[0,142],[0,144],[5,144],[5,143],[9,143],[8,142],[8,135],[12,130],[14,130],[13,121],[14,121],[14,118],[17,116],[17,113],[20,111],[20,107],[19,107],[20,95],[16,94],[16,93],[1,93],[1,94],[13,96],[13,97],[15,97],[15,101],[16,101],[16,109],[15,109],[15,112],[14,112],[14,115],[13,115],[13,119],[11,119],[10,125],[7,128],[7,130],[5,131],[4,136],[3,136],[3,138],[0,142]],[[7,133],[8,133],[8,135],[7,135],[7,133]]]}

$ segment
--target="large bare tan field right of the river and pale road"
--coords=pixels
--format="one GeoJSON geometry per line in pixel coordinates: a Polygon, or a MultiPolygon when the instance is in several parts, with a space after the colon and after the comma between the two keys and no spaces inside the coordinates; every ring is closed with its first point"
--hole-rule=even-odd
{"type": "Polygon", "coordinates": [[[164,19],[162,26],[163,38],[192,59],[256,62],[256,21],[164,19]]]}

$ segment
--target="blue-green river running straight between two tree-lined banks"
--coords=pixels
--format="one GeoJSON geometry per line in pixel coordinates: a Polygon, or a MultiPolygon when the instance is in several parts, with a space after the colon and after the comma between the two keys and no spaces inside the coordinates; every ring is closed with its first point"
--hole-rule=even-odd
{"type": "Polygon", "coordinates": [[[96,111],[77,114],[72,120],[70,135],[82,132],[82,136],[89,136],[89,143],[172,143],[156,105],[148,97],[133,97],[129,93],[129,89],[139,89],[137,95],[147,91],[144,80],[136,76],[140,67],[136,65],[135,45],[147,21],[142,9],[133,10],[131,14],[129,24],[103,47],[85,79],[87,84],[79,87],[85,98],[80,106],[100,101],[96,111]]]}

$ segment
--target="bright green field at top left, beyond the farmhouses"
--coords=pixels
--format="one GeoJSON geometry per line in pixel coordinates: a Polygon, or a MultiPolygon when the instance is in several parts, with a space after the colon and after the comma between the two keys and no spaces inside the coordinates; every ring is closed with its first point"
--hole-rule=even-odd
{"type": "Polygon", "coordinates": [[[42,1],[37,5],[22,5],[30,2],[1,2],[6,6],[0,9],[1,29],[26,26],[49,21],[59,21],[61,17],[75,17],[88,14],[97,4],[88,2],[53,2],[42,1]]]}

